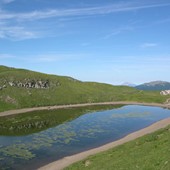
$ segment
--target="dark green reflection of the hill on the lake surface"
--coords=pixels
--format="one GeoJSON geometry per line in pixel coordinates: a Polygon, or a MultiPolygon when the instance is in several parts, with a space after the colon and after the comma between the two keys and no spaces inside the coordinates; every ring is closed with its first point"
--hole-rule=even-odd
{"type": "Polygon", "coordinates": [[[122,107],[122,105],[87,106],[57,110],[41,110],[1,117],[0,135],[24,136],[58,126],[86,113],[119,107],[122,107]]]}

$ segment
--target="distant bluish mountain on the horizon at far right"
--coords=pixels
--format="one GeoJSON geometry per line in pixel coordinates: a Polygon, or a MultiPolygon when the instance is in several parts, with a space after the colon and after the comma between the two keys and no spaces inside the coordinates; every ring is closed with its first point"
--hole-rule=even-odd
{"type": "Polygon", "coordinates": [[[152,81],[149,83],[144,83],[138,86],[135,86],[139,90],[169,90],[170,82],[166,81],[152,81]]]}

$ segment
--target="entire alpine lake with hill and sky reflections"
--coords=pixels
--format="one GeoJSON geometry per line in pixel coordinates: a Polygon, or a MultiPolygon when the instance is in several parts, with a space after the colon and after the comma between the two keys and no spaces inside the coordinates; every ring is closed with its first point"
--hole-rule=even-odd
{"type": "Polygon", "coordinates": [[[166,108],[105,105],[0,117],[0,169],[31,170],[170,117],[166,108]]]}

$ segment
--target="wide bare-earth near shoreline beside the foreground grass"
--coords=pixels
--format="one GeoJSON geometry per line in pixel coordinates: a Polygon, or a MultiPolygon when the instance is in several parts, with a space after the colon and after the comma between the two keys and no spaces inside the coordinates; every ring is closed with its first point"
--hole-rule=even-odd
{"type": "Polygon", "coordinates": [[[141,130],[130,133],[127,136],[125,136],[119,140],[110,142],[108,144],[102,145],[102,146],[94,148],[94,149],[80,152],[75,155],[64,157],[57,161],[51,162],[45,166],[42,166],[42,167],[38,168],[38,170],[62,170],[63,168],[66,168],[75,162],[78,162],[78,161],[81,161],[81,160],[87,158],[88,156],[95,155],[95,154],[103,152],[103,151],[107,151],[107,150],[112,149],[116,146],[122,145],[124,143],[130,142],[130,141],[135,140],[135,139],[142,137],[144,135],[153,133],[159,129],[165,128],[168,125],[170,125],[170,118],[160,120],[156,123],[153,123],[152,125],[150,125],[148,127],[145,127],[141,130]]]}

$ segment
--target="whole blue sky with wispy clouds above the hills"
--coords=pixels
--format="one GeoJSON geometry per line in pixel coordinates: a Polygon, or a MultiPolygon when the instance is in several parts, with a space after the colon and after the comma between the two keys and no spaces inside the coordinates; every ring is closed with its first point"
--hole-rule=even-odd
{"type": "Polygon", "coordinates": [[[170,81],[170,0],[0,0],[0,65],[110,84],[170,81]]]}

